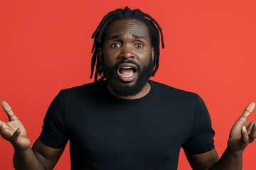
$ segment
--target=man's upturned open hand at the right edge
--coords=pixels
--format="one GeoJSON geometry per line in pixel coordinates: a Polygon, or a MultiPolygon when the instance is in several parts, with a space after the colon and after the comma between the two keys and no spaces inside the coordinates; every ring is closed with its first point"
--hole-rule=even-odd
{"type": "Polygon", "coordinates": [[[256,138],[256,120],[251,123],[247,122],[247,118],[254,108],[255,103],[250,103],[230,131],[228,148],[234,152],[242,152],[256,138]]]}

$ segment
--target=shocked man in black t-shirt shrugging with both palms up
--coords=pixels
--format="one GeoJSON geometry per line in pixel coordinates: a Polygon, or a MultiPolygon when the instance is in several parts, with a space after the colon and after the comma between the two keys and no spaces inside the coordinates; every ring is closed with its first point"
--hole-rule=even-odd
{"type": "Polygon", "coordinates": [[[92,35],[95,82],[60,91],[32,148],[2,102],[10,121],[0,122],[0,133],[14,145],[16,169],[53,169],[68,140],[71,169],[177,169],[181,147],[193,169],[242,169],[242,152],[256,137],[255,121],[246,122],[255,103],[219,159],[203,100],[149,80],[159,67],[160,34],[164,48],[161,27],[139,9],[108,13],[92,35]]]}

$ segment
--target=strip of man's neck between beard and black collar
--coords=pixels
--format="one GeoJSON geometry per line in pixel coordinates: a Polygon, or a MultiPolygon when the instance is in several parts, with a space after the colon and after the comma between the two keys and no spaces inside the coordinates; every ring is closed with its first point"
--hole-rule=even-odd
{"type": "Polygon", "coordinates": [[[113,96],[116,96],[122,99],[131,100],[131,99],[138,99],[138,98],[142,98],[143,96],[146,96],[146,94],[148,94],[151,89],[151,85],[149,84],[149,82],[146,82],[146,85],[143,87],[142,91],[140,91],[139,94],[136,94],[134,96],[121,96],[116,92],[114,92],[109,84],[107,84],[107,89],[110,91],[110,94],[112,94],[113,96]]]}

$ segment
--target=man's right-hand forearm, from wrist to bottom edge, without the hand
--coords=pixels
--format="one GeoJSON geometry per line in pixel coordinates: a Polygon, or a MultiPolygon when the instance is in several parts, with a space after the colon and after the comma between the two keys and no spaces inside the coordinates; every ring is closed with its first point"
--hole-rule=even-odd
{"type": "Polygon", "coordinates": [[[242,151],[233,152],[225,149],[218,162],[210,167],[210,170],[242,170],[242,151]]]}

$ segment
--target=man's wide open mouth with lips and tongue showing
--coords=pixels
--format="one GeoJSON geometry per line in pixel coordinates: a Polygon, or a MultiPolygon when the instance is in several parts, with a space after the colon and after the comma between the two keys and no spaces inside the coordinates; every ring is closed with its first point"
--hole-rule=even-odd
{"type": "Polygon", "coordinates": [[[120,64],[117,74],[122,81],[132,81],[137,74],[137,67],[134,64],[120,64]]]}

